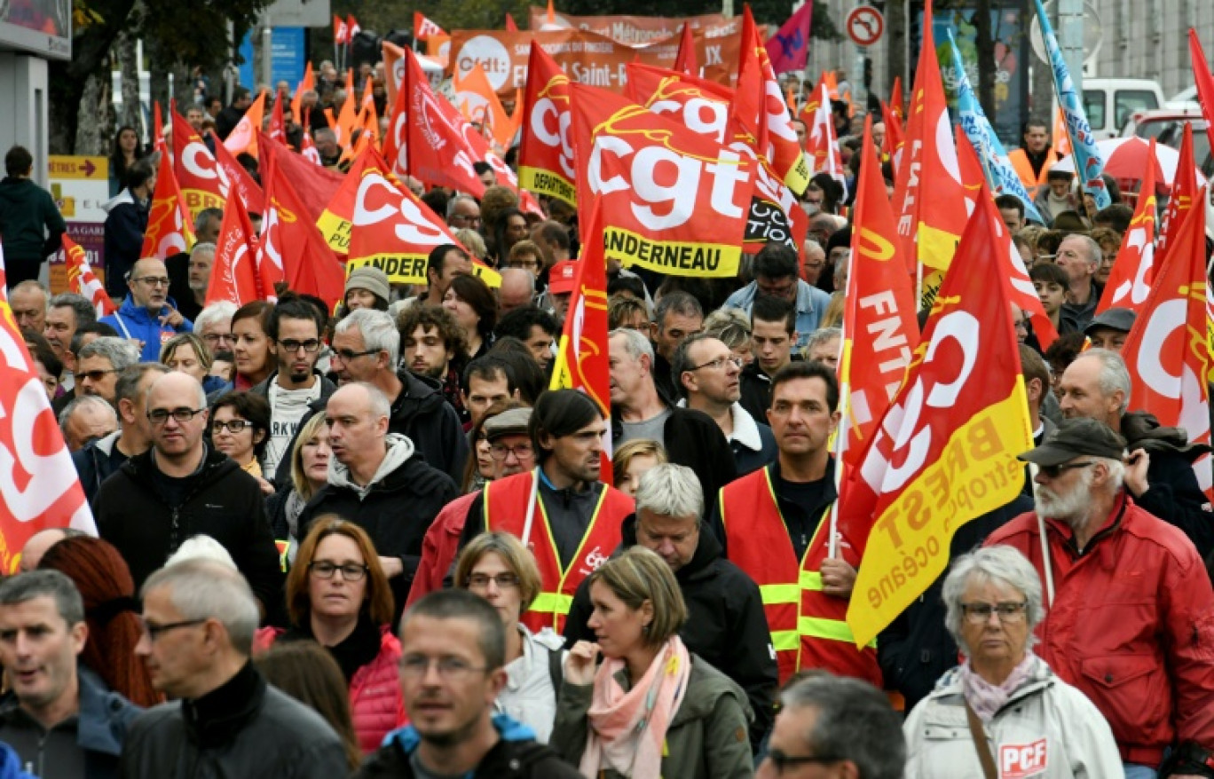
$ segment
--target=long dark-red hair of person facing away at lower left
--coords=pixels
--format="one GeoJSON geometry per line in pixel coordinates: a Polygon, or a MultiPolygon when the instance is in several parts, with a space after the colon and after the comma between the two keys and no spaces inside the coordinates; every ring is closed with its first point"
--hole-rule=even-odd
{"type": "Polygon", "coordinates": [[[152,687],[152,675],[135,654],[143,633],[140,604],[135,580],[118,550],[101,539],[73,536],[46,550],[38,567],[64,574],[80,591],[89,627],[80,663],[132,704],[159,704],[163,699],[152,687]]]}

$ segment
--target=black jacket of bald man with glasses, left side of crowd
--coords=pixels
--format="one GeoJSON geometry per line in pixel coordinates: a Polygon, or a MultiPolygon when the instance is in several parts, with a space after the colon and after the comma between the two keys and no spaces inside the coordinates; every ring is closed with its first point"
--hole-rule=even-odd
{"type": "Polygon", "coordinates": [[[266,610],[278,609],[283,573],[257,481],[208,447],[185,502],[174,508],[157,484],[153,453],[123,464],[93,501],[97,531],[121,552],[136,590],[183,541],[205,534],[232,555],[266,610]]]}

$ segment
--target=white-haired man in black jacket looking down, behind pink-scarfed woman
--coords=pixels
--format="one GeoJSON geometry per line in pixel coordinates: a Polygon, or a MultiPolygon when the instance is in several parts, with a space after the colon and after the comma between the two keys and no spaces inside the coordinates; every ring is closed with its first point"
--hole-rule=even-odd
{"type": "MultiPolygon", "coordinates": [[[[755,712],[750,746],[756,750],[775,718],[779,672],[759,586],[721,556],[721,544],[702,523],[704,501],[691,468],[663,464],[641,477],[636,513],[620,528],[622,548],[643,546],[662,556],[687,603],[680,638],[747,692],[755,712]]],[[[578,587],[565,624],[568,646],[595,641],[590,630],[590,587],[578,587]]],[[[943,622],[941,622],[943,624],[943,622]]]]}

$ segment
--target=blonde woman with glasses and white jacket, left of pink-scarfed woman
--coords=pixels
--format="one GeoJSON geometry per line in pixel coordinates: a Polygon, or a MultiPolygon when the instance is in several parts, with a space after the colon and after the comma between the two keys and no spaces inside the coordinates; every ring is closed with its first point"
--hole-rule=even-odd
{"type": "Polygon", "coordinates": [[[546,744],[556,716],[565,639],[550,630],[532,633],[520,619],[539,595],[535,558],[509,533],[482,533],[455,564],[455,586],[488,601],[506,629],[506,686],[497,709],[531,726],[546,744]]]}

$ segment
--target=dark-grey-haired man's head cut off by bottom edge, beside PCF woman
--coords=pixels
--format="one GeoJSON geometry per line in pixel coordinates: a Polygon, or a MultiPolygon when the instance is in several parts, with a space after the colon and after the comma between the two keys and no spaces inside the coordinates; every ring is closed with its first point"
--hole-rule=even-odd
{"type": "Polygon", "coordinates": [[[821,673],[789,684],[779,701],[758,779],[902,779],[907,760],[902,717],[881,690],[821,673]]]}

